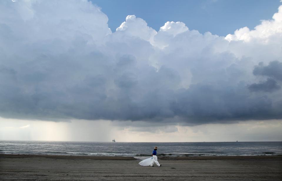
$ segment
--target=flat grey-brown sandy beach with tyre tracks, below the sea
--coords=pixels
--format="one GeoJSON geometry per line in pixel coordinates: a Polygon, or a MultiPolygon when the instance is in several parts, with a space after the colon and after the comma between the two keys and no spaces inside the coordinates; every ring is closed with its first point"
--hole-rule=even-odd
{"type": "Polygon", "coordinates": [[[133,157],[4,155],[0,180],[282,180],[282,156],[133,157]]]}

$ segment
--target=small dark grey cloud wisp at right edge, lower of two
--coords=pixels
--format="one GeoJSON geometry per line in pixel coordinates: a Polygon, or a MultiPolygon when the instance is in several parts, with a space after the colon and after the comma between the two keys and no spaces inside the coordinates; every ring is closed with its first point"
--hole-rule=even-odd
{"type": "Polygon", "coordinates": [[[258,92],[258,91],[273,92],[275,90],[279,90],[281,87],[277,84],[277,82],[273,78],[268,78],[264,82],[253,83],[249,85],[248,88],[253,92],[258,92]]]}

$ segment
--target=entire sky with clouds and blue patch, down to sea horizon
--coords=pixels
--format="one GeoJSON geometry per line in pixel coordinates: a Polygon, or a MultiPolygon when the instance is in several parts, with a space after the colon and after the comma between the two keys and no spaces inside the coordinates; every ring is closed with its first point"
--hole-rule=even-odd
{"type": "Polygon", "coordinates": [[[281,141],[280,1],[4,0],[0,32],[1,140],[281,141]]]}

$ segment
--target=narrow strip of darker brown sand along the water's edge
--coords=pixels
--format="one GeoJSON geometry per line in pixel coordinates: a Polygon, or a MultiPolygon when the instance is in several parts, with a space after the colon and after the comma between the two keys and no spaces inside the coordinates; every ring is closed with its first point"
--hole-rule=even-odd
{"type": "MultiPolygon", "coordinates": [[[[93,156],[93,155],[26,155],[0,154],[0,158],[52,158],[69,160],[140,160],[130,156],[93,156]]],[[[150,156],[148,156],[150,157],[150,156]]],[[[251,155],[251,156],[158,156],[159,160],[282,160],[282,155],[251,155]]]]}

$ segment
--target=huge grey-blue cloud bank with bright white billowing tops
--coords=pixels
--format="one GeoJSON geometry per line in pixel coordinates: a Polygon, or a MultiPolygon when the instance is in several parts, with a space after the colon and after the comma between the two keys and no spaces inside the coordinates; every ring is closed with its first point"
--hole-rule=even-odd
{"type": "Polygon", "coordinates": [[[0,2],[0,116],[231,123],[282,118],[282,6],[226,37],[89,1],[0,2]]]}

